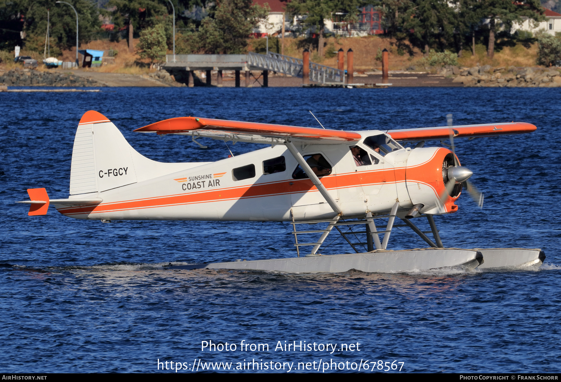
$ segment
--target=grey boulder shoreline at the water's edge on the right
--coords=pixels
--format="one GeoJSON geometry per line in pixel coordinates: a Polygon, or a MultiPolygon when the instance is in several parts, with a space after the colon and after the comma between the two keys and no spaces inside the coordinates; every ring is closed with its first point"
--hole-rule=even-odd
{"type": "Polygon", "coordinates": [[[549,68],[445,67],[439,74],[456,76],[452,82],[467,87],[561,87],[561,73],[549,68]]]}

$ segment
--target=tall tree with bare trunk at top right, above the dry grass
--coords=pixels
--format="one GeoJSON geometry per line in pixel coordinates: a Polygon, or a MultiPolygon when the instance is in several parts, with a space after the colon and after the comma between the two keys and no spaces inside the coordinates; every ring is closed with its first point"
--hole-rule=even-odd
{"type": "Polygon", "coordinates": [[[477,4],[481,16],[489,20],[489,43],[487,57],[495,53],[495,34],[498,29],[510,31],[514,22],[522,24],[525,20],[536,22],[545,20],[544,8],[540,0],[480,0],[477,4]]]}

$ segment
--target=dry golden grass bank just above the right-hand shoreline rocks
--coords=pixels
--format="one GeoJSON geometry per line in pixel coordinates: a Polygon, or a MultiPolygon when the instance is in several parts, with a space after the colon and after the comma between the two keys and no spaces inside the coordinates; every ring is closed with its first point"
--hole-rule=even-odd
{"type": "Polygon", "coordinates": [[[493,59],[487,57],[486,46],[476,45],[475,56],[470,51],[465,52],[464,57],[458,59],[461,66],[474,67],[478,63],[480,65],[491,65],[493,67],[527,67],[536,66],[537,43],[532,44],[530,48],[525,48],[522,44],[515,46],[505,46],[502,50],[496,51],[493,59]]]}

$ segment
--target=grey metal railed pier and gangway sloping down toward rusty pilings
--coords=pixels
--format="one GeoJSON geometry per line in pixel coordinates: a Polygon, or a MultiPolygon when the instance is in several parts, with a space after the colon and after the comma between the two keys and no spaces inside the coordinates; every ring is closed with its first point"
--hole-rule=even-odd
{"type": "MultiPolygon", "coordinates": [[[[304,61],[278,53],[258,54],[168,54],[164,68],[193,70],[273,71],[302,78],[304,61]]],[[[310,81],[344,81],[344,71],[310,62],[310,81]]]]}

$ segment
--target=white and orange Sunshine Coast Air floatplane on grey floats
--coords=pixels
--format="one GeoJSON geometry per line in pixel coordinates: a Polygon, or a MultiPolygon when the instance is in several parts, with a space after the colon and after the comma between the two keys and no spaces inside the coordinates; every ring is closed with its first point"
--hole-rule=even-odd
{"type": "MultiPolygon", "coordinates": [[[[319,121],[318,121],[319,122],[319,121]]],[[[323,126],[322,126],[323,127],[323,126]]],[[[44,188],[28,189],[29,215],[45,215],[52,204],[62,215],[111,220],[206,220],[289,222],[296,257],[236,260],[171,268],[254,269],[280,272],[407,272],[460,267],[509,268],[541,264],[540,249],[445,248],[434,215],[456,213],[465,188],[482,207],[483,195],[461,166],[454,138],[494,137],[535,131],[522,122],[389,131],[238,122],[197,117],[162,120],[135,130],[222,141],[270,145],[215,162],[162,163],[142,156],[119,129],[97,111],[78,124],[70,170],[70,196],[49,199],[44,188]],[[450,139],[450,148],[424,147],[450,139]],[[399,142],[418,142],[403,147],[399,142]],[[390,250],[396,217],[428,248],[390,250]],[[427,218],[431,231],[413,222],[427,218]],[[380,223],[381,221],[381,223],[380,223]],[[302,224],[316,225],[300,230],[302,224]],[[365,243],[352,243],[345,227],[359,226],[365,243]],[[315,229],[314,229],[315,228],[315,229]],[[333,231],[335,229],[335,231],[333,231]],[[354,253],[321,255],[331,232],[354,253]],[[426,233],[431,233],[434,240],[426,233]],[[316,235],[317,239],[302,237],[316,235]],[[300,238],[300,240],[298,240],[300,238]],[[307,242],[306,242],[307,241],[307,242]],[[364,245],[367,251],[357,249],[364,245]],[[311,248],[304,251],[303,248],[311,248]],[[304,254],[302,253],[304,252],[304,254]]],[[[396,225],[397,226],[397,225],[396,225]]]]}

